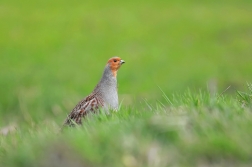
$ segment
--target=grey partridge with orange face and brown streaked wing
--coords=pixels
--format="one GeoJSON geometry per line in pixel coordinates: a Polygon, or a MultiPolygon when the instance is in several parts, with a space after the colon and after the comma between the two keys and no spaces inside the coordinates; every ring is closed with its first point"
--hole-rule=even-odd
{"type": "Polygon", "coordinates": [[[64,125],[81,125],[82,119],[90,112],[118,110],[117,71],[124,63],[125,61],[120,57],[112,57],[108,60],[93,92],[73,108],[64,125]]]}

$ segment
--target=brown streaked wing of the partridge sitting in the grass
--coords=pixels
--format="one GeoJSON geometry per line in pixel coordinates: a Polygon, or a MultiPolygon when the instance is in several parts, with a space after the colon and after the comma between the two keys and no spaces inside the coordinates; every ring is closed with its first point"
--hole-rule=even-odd
{"type": "Polygon", "coordinates": [[[94,112],[103,106],[103,101],[96,94],[91,94],[80,101],[72,112],[68,115],[64,125],[73,126],[74,124],[82,124],[82,118],[90,111],[94,112]]]}

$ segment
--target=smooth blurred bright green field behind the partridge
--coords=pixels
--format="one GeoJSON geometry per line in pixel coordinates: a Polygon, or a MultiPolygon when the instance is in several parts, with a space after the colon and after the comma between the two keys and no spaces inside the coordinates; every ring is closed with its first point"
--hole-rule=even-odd
{"type": "Polygon", "coordinates": [[[56,119],[120,56],[120,100],[244,89],[251,82],[252,1],[0,3],[0,126],[56,119]]]}

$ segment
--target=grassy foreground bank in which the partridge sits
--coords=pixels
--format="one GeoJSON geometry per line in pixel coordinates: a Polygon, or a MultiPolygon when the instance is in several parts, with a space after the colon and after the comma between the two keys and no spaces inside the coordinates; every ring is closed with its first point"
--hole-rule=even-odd
{"type": "Polygon", "coordinates": [[[207,92],[171,104],[89,115],[59,132],[54,121],[1,139],[3,166],[250,166],[251,109],[207,92]],[[15,151],[14,151],[15,150],[15,151]]]}

